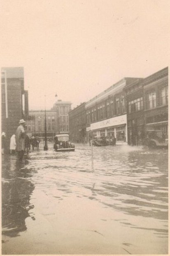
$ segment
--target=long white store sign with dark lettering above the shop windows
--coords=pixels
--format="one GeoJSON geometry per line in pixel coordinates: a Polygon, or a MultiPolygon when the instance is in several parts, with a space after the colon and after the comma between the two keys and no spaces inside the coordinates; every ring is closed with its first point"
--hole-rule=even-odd
{"type": "MultiPolygon", "coordinates": [[[[95,130],[95,129],[116,126],[121,124],[127,124],[127,115],[120,115],[120,116],[109,118],[107,120],[93,123],[90,125],[90,129],[95,130]]],[[[87,128],[86,128],[86,131],[87,131],[87,128]]]]}

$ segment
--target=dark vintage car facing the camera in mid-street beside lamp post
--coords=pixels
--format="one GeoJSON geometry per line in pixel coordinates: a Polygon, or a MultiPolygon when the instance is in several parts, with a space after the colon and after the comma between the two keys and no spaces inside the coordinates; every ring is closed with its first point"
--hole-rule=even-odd
{"type": "Polygon", "coordinates": [[[75,145],[69,141],[68,134],[58,134],[54,137],[54,150],[75,151],[75,145]]]}

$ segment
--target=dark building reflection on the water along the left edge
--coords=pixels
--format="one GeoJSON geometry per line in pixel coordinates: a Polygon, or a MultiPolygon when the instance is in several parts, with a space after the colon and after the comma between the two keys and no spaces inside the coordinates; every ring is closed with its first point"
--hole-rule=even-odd
{"type": "Polygon", "coordinates": [[[25,219],[33,207],[30,195],[34,190],[28,177],[30,172],[22,172],[16,160],[2,163],[2,235],[14,237],[27,229],[25,219]]]}

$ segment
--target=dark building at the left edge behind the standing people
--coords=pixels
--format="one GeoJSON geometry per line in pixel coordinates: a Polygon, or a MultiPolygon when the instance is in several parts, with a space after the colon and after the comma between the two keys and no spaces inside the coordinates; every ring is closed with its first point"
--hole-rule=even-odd
{"type": "Polygon", "coordinates": [[[28,91],[24,90],[23,67],[1,68],[1,129],[7,135],[7,150],[19,120],[26,120],[28,114],[28,91]]]}

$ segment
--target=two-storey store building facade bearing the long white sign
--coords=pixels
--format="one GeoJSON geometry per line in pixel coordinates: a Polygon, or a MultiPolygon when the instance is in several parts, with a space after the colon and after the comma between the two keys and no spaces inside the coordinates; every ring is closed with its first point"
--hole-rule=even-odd
{"type": "Polygon", "coordinates": [[[126,98],[123,88],[137,78],[123,78],[86,103],[86,132],[90,136],[115,137],[127,144],[126,98]]]}

